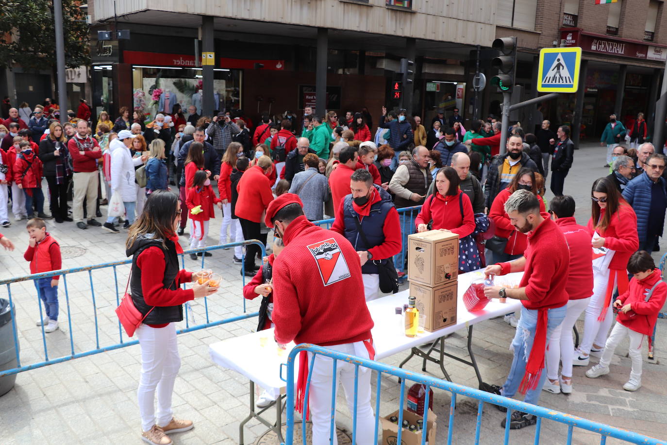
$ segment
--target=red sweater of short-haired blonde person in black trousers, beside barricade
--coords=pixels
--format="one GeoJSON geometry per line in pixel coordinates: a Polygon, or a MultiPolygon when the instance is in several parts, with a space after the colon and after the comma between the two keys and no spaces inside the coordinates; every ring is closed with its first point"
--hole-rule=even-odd
{"type": "Polygon", "coordinates": [[[273,193],[271,193],[271,182],[259,165],[245,170],[236,185],[236,191],[239,192],[239,199],[234,208],[236,216],[260,222],[261,214],[273,201],[273,193]]]}

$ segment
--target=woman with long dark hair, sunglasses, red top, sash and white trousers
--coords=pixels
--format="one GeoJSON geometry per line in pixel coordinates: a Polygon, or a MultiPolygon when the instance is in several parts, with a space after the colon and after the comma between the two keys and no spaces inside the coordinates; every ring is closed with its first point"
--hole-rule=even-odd
{"type": "MultiPolygon", "coordinates": [[[[588,231],[593,248],[610,250],[608,265],[602,258],[593,262],[593,295],[586,308],[584,334],[579,344],[574,366],[588,366],[588,356],[600,356],[609,328],[612,327],[612,294],[618,286],[618,294],[628,290],[626,266],[630,256],[639,248],[637,215],[623,199],[613,181],[596,179],[591,190],[592,216],[588,231]],[[601,264],[602,263],[602,264],[601,264]]],[[[599,251],[598,251],[599,252],[599,251]]]]}

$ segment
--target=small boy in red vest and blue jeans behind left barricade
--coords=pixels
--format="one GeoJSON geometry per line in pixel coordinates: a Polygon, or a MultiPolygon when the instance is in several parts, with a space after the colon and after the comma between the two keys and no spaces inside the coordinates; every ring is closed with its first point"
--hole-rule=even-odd
{"type": "MultiPolygon", "coordinates": [[[[30,237],[28,249],[23,254],[30,262],[30,273],[51,272],[62,267],[60,246],[46,231],[46,224],[41,218],[33,218],[26,225],[30,237]]],[[[44,302],[46,316],[37,320],[37,326],[44,326],[44,332],[53,332],[58,328],[58,281],[60,276],[35,280],[37,294],[44,302]]]]}

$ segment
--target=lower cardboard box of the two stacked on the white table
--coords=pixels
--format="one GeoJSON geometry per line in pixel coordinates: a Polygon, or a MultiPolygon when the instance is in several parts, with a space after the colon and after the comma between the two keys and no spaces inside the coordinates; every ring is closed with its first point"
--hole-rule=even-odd
{"type": "Polygon", "coordinates": [[[424,330],[434,332],[456,324],[458,281],[448,282],[436,288],[411,281],[410,296],[416,298],[415,304],[419,314],[426,316],[424,330]]]}

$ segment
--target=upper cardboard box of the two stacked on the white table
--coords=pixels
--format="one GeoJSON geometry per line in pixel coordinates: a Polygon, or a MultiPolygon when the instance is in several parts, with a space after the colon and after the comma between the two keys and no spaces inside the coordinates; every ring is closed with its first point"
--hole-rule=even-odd
{"type": "Polygon", "coordinates": [[[436,287],[458,278],[458,235],[430,230],[408,236],[408,279],[436,287]]]}

